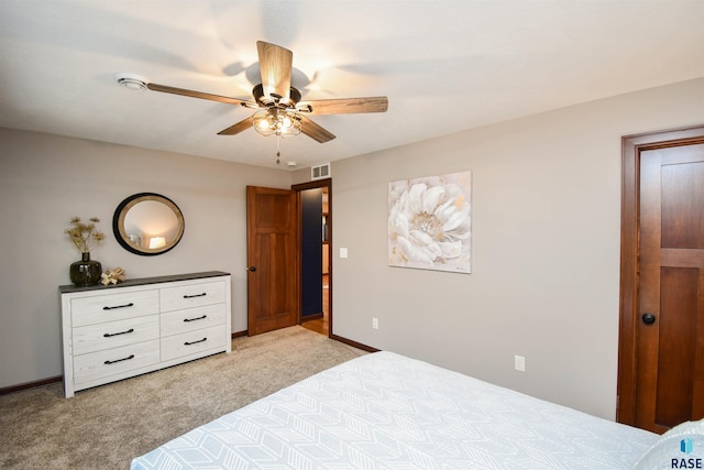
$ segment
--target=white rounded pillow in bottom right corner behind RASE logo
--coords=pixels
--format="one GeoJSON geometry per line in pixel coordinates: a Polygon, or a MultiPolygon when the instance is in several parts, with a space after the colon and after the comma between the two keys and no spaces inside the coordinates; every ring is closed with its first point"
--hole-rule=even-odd
{"type": "Polygon", "coordinates": [[[704,419],[682,423],[668,430],[634,469],[704,469],[704,419]]]}

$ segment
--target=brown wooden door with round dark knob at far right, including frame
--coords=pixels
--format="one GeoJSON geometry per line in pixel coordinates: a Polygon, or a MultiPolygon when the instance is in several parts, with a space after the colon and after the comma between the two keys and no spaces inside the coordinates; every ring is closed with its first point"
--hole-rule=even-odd
{"type": "Polygon", "coordinates": [[[663,433],[704,417],[704,138],[627,144],[618,419],[663,433]]]}

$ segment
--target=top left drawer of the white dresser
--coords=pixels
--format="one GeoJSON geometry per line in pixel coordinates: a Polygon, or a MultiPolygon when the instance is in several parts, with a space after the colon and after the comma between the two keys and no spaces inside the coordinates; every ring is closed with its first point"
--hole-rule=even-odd
{"type": "Polygon", "coordinates": [[[158,314],[158,291],[121,292],[70,300],[74,327],[158,314]]]}

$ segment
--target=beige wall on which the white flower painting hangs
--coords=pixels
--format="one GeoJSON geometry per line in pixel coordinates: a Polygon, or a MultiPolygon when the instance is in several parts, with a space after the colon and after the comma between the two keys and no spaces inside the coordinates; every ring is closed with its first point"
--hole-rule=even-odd
{"type": "Polygon", "coordinates": [[[614,418],[620,138],[702,103],[698,79],[333,163],[333,332],[614,418]],[[460,171],[472,274],[387,266],[387,183],[460,171]]]}

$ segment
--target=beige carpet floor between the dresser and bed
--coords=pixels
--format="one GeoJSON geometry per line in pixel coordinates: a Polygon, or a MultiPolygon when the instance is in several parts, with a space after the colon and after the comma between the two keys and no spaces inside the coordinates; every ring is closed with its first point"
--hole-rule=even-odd
{"type": "Polygon", "coordinates": [[[362,354],[296,326],[73,398],[62,383],[0,396],[0,468],[128,469],[187,430],[362,354]]]}

